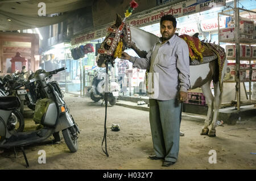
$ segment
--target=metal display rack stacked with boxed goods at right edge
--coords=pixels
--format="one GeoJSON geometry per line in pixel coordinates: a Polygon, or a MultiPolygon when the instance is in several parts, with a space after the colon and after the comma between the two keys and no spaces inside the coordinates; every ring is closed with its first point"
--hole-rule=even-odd
{"type": "Polygon", "coordinates": [[[234,9],[218,12],[218,23],[221,18],[226,22],[225,28],[218,28],[219,45],[222,43],[221,46],[225,46],[228,59],[223,91],[236,92],[236,104],[233,105],[236,105],[238,111],[240,106],[256,103],[255,17],[255,11],[236,6],[234,9]],[[229,87],[225,86],[227,83],[233,83],[233,89],[225,90],[225,87],[229,87]]]}

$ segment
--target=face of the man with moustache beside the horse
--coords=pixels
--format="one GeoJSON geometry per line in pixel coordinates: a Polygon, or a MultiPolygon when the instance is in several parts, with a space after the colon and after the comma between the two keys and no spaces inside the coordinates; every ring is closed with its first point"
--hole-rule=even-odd
{"type": "Polygon", "coordinates": [[[161,32],[163,41],[169,40],[172,36],[174,36],[175,31],[176,31],[176,28],[174,28],[174,24],[171,21],[163,20],[160,26],[160,32],[161,32]]]}

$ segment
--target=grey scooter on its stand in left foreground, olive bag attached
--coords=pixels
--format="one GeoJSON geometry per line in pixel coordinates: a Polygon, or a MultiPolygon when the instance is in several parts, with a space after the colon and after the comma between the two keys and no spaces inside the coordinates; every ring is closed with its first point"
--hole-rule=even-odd
{"type": "Polygon", "coordinates": [[[77,138],[79,128],[72,115],[69,113],[63,95],[55,82],[49,82],[53,74],[63,71],[65,68],[53,71],[36,70],[35,77],[30,82],[39,82],[42,98],[36,102],[33,120],[43,127],[36,131],[16,133],[11,125],[8,125],[8,117],[11,112],[20,106],[16,96],[0,97],[0,149],[20,147],[24,159],[29,166],[23,146],[43,142],[51,135],[55,141],[60,141],[59,132],[62,131],[65,144],[71,152],[78,150],[77,138]]]}

